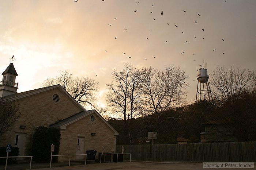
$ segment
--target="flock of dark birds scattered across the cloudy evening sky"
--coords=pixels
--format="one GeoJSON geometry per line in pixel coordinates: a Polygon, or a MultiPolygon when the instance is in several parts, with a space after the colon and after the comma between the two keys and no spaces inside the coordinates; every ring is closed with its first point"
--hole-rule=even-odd
{"type": "MultiPolygon", "coordinates": [[[[78,0],[75,0],[75,2],[77,2],[78,0]]],[[[102,0],[102,1],[104,1],[104,0],[102,0]]],[[[226,2],[226,1],[225,1],[226,2]]],[[[139,4],[140,2],[136,2],[137,4],[139,4]]],[[[154,7],[154,4],[152,5],[152,7],[154,7]]],[[[138,10],[135,10],[134,12],[138,12],[138,10]]],[[[183,10],[183,12],[186,12],[186,10],[183,10]]],[[[153,13],[152,11],[151,11],[151,13],[153,13]]],[[[162,11],[161,13],[159,12],[159,15],[164,15],[164,11],[162,11]]],[[[200,13],[197,13],[197,16],[198,17],[200,17],[200,13]]],[[[116,20],[116,18],[114,18],[114,20],[116,20]]],[[[153,20],[156,20],[155,18],[153,18],[153,20]]],[[[195,21],[195,24],[197,24],[197,21],[195,21]]],[[[169,25],[169,23],[167,23],[167,25],[169,25]]],[[[108,26],[113,26],[113,24],[111,23],[111,24],[108,24],[108,26]]],[[[177,29],[178,28],[180,28],[179,26],[178,26],[178,24],[173,24],[173,26],[175,26],[177,29]]],[[[125,28],[125,30],[127,30],[127,28],[125,28]]],[[[202,30],[202,32],[205,32],[206,30],[204,29],[204,28],[202,28],[201,29],[202,30]]],[[[150,33],[152,33],[152,30],[150,31],[150,33]]],[[[184,31],[182,31],[182,34],[184,34],[184,31]]],[[[149,40],[149,38],[148,38],[148,36],[146,36],[146,38],[147,38],[147,40],[149,40]]],[[[196,36],[194,36],[194,38],[196,39],[197,37],[196,36]]],[[[202,39],[205,39],[204,37],[201,37],[202,39]]],[[[117,39],[117,37],[115,36],[114,37],[114,39],[117,39]]],[[[222,41],[224,42],[224,39],[222,39],[222,41]]],[[[165,40],[165,42],[167,43],[168,41],[167,40],[165,40]]],[[[188,40],[186,40],[185,41],[186,43],[188,43],[188,40]]],[[[214,48],[212,51],[216,51],[216,48],[214,48]]],[[[105,51],[106,53],[107,53],[107,51],[105,51]]],[[[124,52],[122,52],[123,54],[126,54],[126,53],[124,53],[124,52]]],[[[185,51],[183,51],[183,52],[181,52],[180,54],[184,54],[184,53],[186,53],[185,51]]],[[[224,52],[222,52],[222,54],[225,54],[224,52]]],[[[192,53],[192,55],[195,55],[195,53],[192,53]]],[[[132,58],[131,56],[128,56],[127,55],[127,57],[128,58],[132,58]]],[[[155,56],[153,56],[154,58],[156,58],[155,56]]],[[[147,60],[147,58],[144,58],[145,60],[147,60]]],[[[195,59],[193,60],[193,61],[196,61],[195,59]]]]}

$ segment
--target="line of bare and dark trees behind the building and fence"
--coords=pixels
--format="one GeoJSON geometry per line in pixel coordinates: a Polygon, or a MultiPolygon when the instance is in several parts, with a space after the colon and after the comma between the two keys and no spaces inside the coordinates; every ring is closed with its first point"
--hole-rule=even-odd
{"type": "Polygon", "coordinates": [[[174,65],[157,70],[125,63],[123,70],[114,69],[107,84],[107,108],[97,105],[98,82],[73,78],[69,70],[48,78],[43,86],[60,84],[84,107],[105,113],[104,118],[120,134],[117,144],[146,140],[147,132],[157,132],[158,143],[175,143],[178,136],[199,142],[199,133],[204,131],[200,124],[212,120],[225,124],[239,141],[250,141],[256,140],[255,75],[254,70],[218,67],[209,79],[213,100],[190,104],[185,98],[188,76],[174,65]]]}

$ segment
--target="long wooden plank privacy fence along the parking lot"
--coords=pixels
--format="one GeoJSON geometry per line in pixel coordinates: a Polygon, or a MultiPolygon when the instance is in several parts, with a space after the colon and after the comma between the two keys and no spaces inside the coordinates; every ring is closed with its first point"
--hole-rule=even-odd
{"type": "MultiPolygon", "coordinates": [[[[256,162],[256,141],[123,146],[135,161],[256,162]]],[[[122,153],[122,145],[116,145],[116,153],[122,153]]]]}

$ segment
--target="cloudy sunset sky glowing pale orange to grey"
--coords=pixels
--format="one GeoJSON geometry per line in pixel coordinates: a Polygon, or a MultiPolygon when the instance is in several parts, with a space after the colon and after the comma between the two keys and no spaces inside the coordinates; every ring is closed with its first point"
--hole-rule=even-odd
{"type": "Polygon", "coordinates": [[[0,71],[14,55],[24,92],[70,70],[99,82],[104,105],[114,68],[175,65],[193,102],[200,65],[210,75],[255,69],[255,9],[255,0],[0,0],[0,71]]]}

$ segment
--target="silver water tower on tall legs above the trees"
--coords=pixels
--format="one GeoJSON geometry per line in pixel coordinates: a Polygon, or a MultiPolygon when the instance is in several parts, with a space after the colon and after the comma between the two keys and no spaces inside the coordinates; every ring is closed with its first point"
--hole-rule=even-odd
{"type": "Polygon", "coordinates": [[[203,99],[208,99],[210,101],[212,100],[212,94],[211,94],[211,89],[208,82],[209,76],[207,74],[207,69],[204,69],[202,65],[200,66],[201,68],[197,70],[197,77],[196,77],[197,79],[196,101],[203,100],[203,99]],[[198,96],[198,99],[197,99],[197,96],[198,96]]]}

